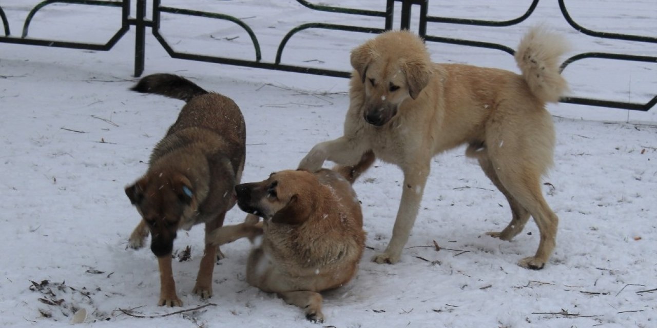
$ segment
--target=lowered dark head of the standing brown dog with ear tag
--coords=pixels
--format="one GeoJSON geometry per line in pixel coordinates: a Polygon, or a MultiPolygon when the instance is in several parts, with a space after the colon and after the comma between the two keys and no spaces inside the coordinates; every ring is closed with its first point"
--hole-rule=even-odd
{"type": "Polygon", "coordinates": [[[170,255],[183,218],[196,211],[189,180],[177,173],[148,173],[125,187],[125,194],[148,225],[150,250],[158,257],[170,255]]]}

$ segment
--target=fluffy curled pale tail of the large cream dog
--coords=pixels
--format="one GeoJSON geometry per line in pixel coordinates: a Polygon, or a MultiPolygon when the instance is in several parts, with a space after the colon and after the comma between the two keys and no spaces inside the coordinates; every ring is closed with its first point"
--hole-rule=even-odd
{"type": "Polygon", "coordinates": [[[559,72],[559,57],[568,50],[566,40],[542,26],[533,27],[520,41],[515,58],[530,90],[543,102],[558,102],[568,91],[559,72]]]}

